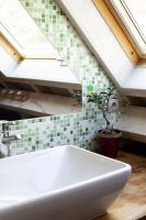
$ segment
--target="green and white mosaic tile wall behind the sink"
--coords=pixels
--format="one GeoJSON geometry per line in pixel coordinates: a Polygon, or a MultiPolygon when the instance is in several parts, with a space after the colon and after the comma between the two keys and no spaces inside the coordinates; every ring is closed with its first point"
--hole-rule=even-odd
{"type": "MultiPolygon", "coordinates": [[[[11,154],[63,144],[93,148],[97,145],[97,131],[104,127],[104,120],[98,107],[87,102],[87,86],[92,84],[94,89],[100,91],[112,86],[112,81],[54,0],[20,2],[82,81],[83,109],[80,113],[15,121],[10,128],[10,133],[20,133],[22,139],[11,144],[11,154]]],[[[113,124],[122,111],[121,96],[120,103],[120,112],[110,116],[113,124]]]]}

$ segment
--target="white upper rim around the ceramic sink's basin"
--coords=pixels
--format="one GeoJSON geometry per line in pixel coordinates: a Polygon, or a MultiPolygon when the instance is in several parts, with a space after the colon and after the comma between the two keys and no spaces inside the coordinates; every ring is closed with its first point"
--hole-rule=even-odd
{"type": "MultiPolygon", "coordinates": [[[[52,152],[57,152],[57,151],[63,150],[63,148],[76,148],[78,151],[82,151],[82,152],[87,153],[87,150],[81,148],[79,146],[61,145],[61,146],[56,146],[56,147],[53,147],[53,148],[40,150],[40,151],[36,151],[36,152],[27,152],[25,154],[20,154],[20,155],[13,155],[13,156],[10,156],[10,157],[5,157],[5,158],[0,160],[0,165],[8,163],[8,161],[14,161],[15,158],[24,158],[24,157],[27,157],[27,156],[29,157],[31,157],[31,156],[34,157],[36,155],[37,156],[42,156],[42,155],[46,154],[47,152],[50,152],[50,151],[52,152]]],[[[90,151],[88,151],[88,154],[94,155],[94,153],[90,152],[90,151]]],[[[42,193],[40,195],[35,195],[35,196],[26,198],[24,200],[20,200],[20,201],[15,202],[15,204],[10,204],[10,205],[8,205],[8,206],[5,206],[3,208],[0,208],[0,211],[5,211],[7,209],[13,209],[13,208],[18,209],[21,206],[29,205],[29,204],[32,204],[32,202],[37,202],[37,200],[45,199],[48,196],[53,197],[53,196],[56,196],[56,195],[66,194],[69,190],[75,190],[75,189],[79,189],[81,187],[87,187],[90,184],[97,183],[97,180],[99,183],[100,182],[104,182],[105,179],[108,179],[110,177],[115,177],[115,175],[119,175],[119,174],[124,173],[124,172],[131,173],[132,167],[131,167],[130,164],[126,164],[124,162],[120,162],[120,161],[116,161],[116,160],[113,160],[113,158],[109,158],[109,157],[100,155],[100,154],[97,154],[97,156],[100,157],[100,158],[103,158],[103,160],[111,161],[111,162],[116,162],[117,164],[123,165],[123,167],[117,168],[116,170],[111,170],[108,174],[101,174],[100,176],[97,176],[97,177],[91,177],[89,179],[86,179],[86,180],[82,180],[82,182],[79,182],[79,183],[76,183],[76,184],[71,184],[71,185],[64,186],[64,187],[58,188],[58,189],[54,189],[54,190],[50,190],[50,191],[42,193]]]]}

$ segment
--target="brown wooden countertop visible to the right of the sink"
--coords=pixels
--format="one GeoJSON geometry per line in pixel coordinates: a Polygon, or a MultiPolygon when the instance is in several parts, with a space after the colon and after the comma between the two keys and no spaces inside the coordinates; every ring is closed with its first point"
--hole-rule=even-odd
{"type": "Polygon", "coordinates": [[[146,217],[146,157],[122,151],[117,160],[132,165],[132,176],[108,213],[94,220],[137,220],[146,217]]]}

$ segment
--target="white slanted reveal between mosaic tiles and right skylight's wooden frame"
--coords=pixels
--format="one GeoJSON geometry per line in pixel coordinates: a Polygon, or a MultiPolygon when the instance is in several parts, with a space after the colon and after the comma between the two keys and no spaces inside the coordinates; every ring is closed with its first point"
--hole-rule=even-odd
{"type": "Polygon", "coordinates": [[[102,62],[115,84],[123,87],[134,67],[92,1],[55,1],[71,19],[82,38],[97,58],[102,62]]]}

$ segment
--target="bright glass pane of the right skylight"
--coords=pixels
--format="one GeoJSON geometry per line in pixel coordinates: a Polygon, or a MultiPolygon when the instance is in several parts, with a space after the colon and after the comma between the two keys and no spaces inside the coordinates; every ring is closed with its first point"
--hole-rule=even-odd
{"type": "Polygon", "coordinates": [[[142,54],[146,54],[146,1],[110,0],[142,54]]]}

